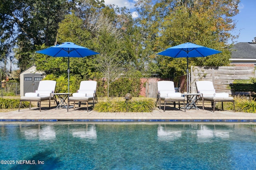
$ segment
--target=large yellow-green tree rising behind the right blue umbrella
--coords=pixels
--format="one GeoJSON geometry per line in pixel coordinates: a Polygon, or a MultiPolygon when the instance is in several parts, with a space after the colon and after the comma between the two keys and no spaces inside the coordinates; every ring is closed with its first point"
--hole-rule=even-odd
{"type": "MultiPolygon", "coordinates": [[[[229,31],[234,29],[232,16],[238,13],[239,0],[182,0],[181,3],[169,0],[158,1],[151,12],[154,15],[154,25],[158,28],[152,31],[157,35],[155,53],[181,43],[191,42],[223,53],[214,57],[189,59],[190,65],[223,66],[229,64],[230,53],[224,49],[228,39],[233,36],[229,31]],[[160,10],[161,9],[161,10],[160,10]],[[161,18],[161,17],[162,18],[161,18]]],[[[186,59],[173,59],[156,56],[159,74],[162,77],[183,75],[186,73],[186,59]]]]}

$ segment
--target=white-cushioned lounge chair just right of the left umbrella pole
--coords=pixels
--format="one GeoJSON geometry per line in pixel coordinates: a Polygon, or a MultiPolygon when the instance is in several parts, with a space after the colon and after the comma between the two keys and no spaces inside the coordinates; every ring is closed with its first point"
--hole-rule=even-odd
{"type": "Polygon", "coordinates": [[[82,81],[80,83],[80,88],[77,90],[76,93],[73,93],[72,96],[68,98],[68,106],[69,102],[74,102],[74,109],[75,109],[75,102],[78,102],[78,106],[80,107],[81,102],[86,102],[87,111],[88,111],[88,102],[93,101],[93,106],[95,101],[98,102],[97,95],[96,95],[96,88],[97,82],[96,81],[82,81]]]}

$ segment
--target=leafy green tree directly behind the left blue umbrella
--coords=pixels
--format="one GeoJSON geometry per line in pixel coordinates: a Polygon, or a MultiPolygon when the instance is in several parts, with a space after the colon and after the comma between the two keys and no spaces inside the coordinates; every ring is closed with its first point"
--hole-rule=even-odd
{"type": "MultiPolygon", "coordinates": [[[[73,13],[68,14],[65,19],[59,24],[58,43],[65,41],[74,42],[77,45],[87,47],[94,50],[92,36],[84,27],[84,21],[73,13]]],[[[46,48],[45,45],[40,49],[46,48]]],[[[46,74],[56,74],[57,76],[67,76],[67,57],[49,57],[46,55],[36,55],[36,66],[39,70],[44,70],[46,74]]],[[[70,59],[70,74],[80,75],[83,79],[93,78],[95,73],[95,62],[91,57],[71,58],[70,59]]]]}

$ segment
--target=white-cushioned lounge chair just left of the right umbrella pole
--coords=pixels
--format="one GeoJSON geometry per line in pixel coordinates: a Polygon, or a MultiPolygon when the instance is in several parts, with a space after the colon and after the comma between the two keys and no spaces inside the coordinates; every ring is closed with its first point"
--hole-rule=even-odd
{"type": "Polygon", "coordinates": [[[184,111],[186,111],[185,106],[185,97],[182,97],[180,92],[175,92],[174,82],[172,81],[159,81],[157,82],[158,95],[156,98],[156,103],[159,104],[159,109],[161,109],[161,101],[164,101],[164,111],[167,102],[173,102],[174,107],[176,106],[176,102],[183,102],[184,111]]]}

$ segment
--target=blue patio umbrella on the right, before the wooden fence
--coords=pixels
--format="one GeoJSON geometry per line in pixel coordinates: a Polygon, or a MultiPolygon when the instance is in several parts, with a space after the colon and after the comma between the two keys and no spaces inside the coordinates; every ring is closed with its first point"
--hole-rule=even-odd
{"type": "Polygon", "coordinates": [[[206,57],[213,54],[222,53],[221,51],[210,49],[201,45],[193,43],[184,43],[170,47],[158,55],[165,55],[173,58],[186,57],[187,58],[187,92],[188,92],[188,58],[189,57],[206,57]]]}

